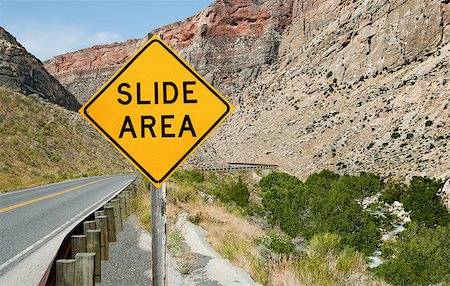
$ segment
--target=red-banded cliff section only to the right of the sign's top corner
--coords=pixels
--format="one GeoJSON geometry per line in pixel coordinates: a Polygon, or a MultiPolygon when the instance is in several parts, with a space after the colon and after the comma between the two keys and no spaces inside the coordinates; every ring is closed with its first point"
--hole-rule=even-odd
{"type": "Polygon", "coordinates": [[[152,31],[236,103],[232,95],[278,58],[293,1],[219,0],[198,15],[152,31]]]}

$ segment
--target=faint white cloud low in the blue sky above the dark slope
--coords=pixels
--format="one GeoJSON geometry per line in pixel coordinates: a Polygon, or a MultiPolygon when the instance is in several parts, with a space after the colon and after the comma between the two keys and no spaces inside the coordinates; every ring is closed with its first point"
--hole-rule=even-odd
{"type": "Polygon", "coordinates": [[[80,48],[123,40],[118,33],[92,33],[73,24],[21,22],[7,24],[5,28],[28,52],[42,61],[80,48]]]}

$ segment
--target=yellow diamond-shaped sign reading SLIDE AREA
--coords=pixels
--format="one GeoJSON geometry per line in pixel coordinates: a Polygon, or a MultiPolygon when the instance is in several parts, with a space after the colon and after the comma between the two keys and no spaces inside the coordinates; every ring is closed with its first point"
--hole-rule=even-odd
{"type": "Polygon", "coordinates": [[[160,187],[233,109],[155,35],[80,113],[160,187]]]}

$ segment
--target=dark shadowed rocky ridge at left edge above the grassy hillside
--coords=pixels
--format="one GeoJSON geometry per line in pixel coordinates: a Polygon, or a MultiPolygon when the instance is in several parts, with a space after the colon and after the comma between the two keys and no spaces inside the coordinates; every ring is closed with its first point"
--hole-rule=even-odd
{"type": "Polygon", "coordinates": [[[37,94],[70,110],[81,106],[42,63],[0,27],[0,85],[25,95],[37,94]]]}

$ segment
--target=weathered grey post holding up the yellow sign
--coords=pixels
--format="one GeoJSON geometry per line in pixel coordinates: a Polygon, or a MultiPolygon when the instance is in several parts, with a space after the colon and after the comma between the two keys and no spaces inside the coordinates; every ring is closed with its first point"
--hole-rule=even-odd
{"type": "Polygon", "coordinates": [[[152,214],[152,274],[153,286],[166,286],[167,282],[167,218],[166,184],[156,188],[150,184],[152,214]]]}

